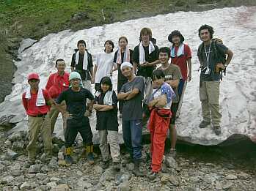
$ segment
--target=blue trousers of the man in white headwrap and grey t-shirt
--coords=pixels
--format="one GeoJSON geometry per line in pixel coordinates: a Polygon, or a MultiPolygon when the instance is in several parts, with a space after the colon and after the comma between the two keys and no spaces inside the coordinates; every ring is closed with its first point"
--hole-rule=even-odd
{"type": "Polygon", "coordinates": [[[122,121],[122,136],[126,149],[134,160],[142,157],[142,120],[122,121]]]}

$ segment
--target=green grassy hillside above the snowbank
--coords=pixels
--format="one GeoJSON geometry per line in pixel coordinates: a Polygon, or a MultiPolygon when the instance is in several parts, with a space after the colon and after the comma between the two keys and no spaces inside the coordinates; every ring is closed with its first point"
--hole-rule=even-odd
{"type": "Polygon", "coordinates": [[[0,29],[7,36],[39,39],[64,29],[86,29],[105,23],[175,11],[211,10],[255,4],[255,0],[0,0],[0,29]],[[223,2],[225,4],[223,4],[223,2]],[[211,5],[218,3],[218,5],[211,5]],[[200,7],[198,4],[210,4],[200,7]]]}

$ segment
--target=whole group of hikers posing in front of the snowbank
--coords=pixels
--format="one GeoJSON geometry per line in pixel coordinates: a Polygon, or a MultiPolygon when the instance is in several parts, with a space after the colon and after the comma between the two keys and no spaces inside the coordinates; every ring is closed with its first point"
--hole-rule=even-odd
{"type": "MultiPolygon", "coordinates": [[[[222,71],[233,57],[221,40],[213,39],[213,27],[203,25],[198,30],[202,44],[197,56],[200,61],[200,100],[202,122],[200,128],[213,124],[216,135],[221,133],[219,111],[219,83],[222,71]]],[[[118,143],[118,110],[122,119],[122,135],[125,147],[134,162],[134,174],[144,176],[139,164],[142,157],[142,126],[147,124],[151,141],[150,179],[161,171],[164,146],[169,130],[171,149],[175,157],[177,132],[175,120],[183,102],[186,83],[191,80],[191,49],[184,43],[180,31],[172,31],[168,37],[172,45],[158,48],[152,31],[143,28],[139,45],[128,48],[128,39],[120,37],[118,50],[106,40],[104,51],[95,56],[89,53],[84,40],[79,40],[72,56],[71,73],[65,72],[65,61],[57,59],[56,73],[49,76],[45,89],[40,89],[37,73],[28,76],[29,88],[22,95],[23,106],[29,116],[29,162],[36,157],[36,141],[41,130],[45,154],[51,157],[51,137],[59,113],[62,114],[65,135],[65,162],[73,163],[72,146],[78,132],[83,139],[87,160],[94,163],[92,130],[89,116],[95,109],[96,130],[100,136],[103,168],[112,159],[114,170],[120,170],[120,146],[118,143]],[[113,89],[112,72],[118,70],[117,93],[113,89]],[[95,93],[92,85],[95,84],[95,93]],[[119,102],[119,105],[117,103],[119,102]],[[110,152],[109,146],[110,145],[110,152]]]]}

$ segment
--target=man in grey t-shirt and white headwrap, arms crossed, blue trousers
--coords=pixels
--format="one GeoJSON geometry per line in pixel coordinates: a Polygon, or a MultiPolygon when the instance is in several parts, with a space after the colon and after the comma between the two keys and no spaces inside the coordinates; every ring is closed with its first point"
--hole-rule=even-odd
{"type": "Polygon", "coordinates": [[[128,78],[128,82],[122,86],[117,94],[118,100],[124,100],[122,107],[122,135],[125,146],[131,159],[134,160],[134,174],[144,176],[139,171],[139,163],[142,157],[142,100],[145,93],[145,83],[141,76],[134,75],[134,67],[129,62],[121,65],[122,75],[128,78]]]}

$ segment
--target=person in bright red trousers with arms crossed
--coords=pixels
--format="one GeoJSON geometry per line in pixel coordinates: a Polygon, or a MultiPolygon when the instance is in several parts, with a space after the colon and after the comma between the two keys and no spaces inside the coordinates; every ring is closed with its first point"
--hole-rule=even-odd
{"type": "Polygon", "coordinates": [[[151,141],[151,173],[149,179],[155,179],[158,172],[161,171],[161,162],[164,156],[164,143],[169,130],[169,121],[172,113],[170,111],[172,98],[175,93],[168,83],[164,82],[164,72],[155,70],[152,75],[153,94],[152,100],[149,102],[150,121],[148,129],[150,130],[151,141]]]}

